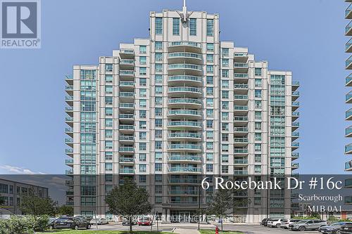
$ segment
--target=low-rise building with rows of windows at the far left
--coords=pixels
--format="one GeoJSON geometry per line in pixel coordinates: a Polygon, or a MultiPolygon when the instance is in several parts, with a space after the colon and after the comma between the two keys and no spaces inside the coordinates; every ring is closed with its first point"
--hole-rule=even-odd
{"type": "Polygon", "coordinates": [[[4,200],[4,204],[0,205],[0,209],[6,209],[12,214],[22,214],[20,212],[20,202],[23,194],[36,194],[39,197],[47,198],[49,197],[49,189],[0,178],[0,197],[4,200]]]}

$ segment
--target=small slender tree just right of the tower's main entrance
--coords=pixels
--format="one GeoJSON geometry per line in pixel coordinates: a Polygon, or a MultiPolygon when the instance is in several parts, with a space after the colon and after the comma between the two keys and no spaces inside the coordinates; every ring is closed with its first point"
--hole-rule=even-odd
{"type": "Polygon", "coordinates": [[[208,204],[208,213],[215,214],[221,221],[221,230],[222,227],[222,217],[229,212],[233,207],[233,198],[231,190],[219,189],[215,196],[213,197],[210,204],[208,204]]]}

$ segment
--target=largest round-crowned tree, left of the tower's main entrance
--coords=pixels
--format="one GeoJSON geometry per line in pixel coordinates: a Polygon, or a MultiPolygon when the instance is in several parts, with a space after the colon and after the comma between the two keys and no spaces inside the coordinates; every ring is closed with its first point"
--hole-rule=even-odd
{"type": "Polygon", "coordinates": [[[147,214],[151,211],[149,193],[144,188],[138,188],[134,181],[125,179],[124,183],[113,188],[106,196],[109,212],[114,215],[125,216],[130,221],[132,233],[132,216],[147,214]]]}

